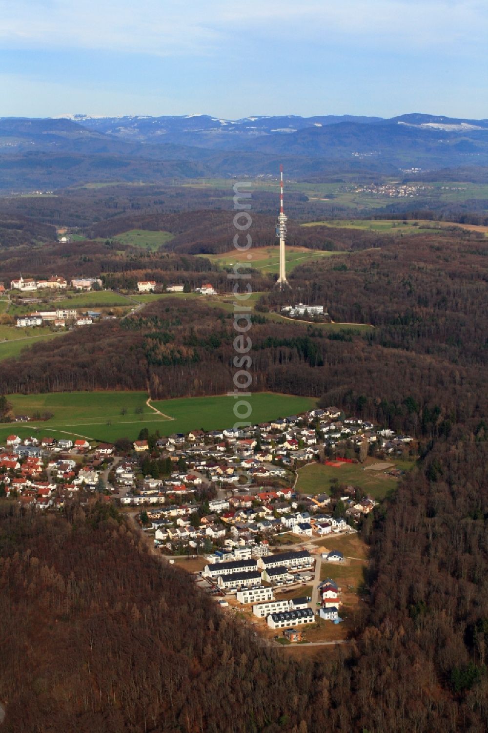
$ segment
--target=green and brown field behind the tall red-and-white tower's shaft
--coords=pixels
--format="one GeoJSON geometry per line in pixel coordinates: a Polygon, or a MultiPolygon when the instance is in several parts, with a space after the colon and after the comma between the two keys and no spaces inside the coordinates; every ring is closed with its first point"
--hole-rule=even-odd
{"type": "MultiPolygon", "coordinates": [[[[297,265],[305,265],[307,262],[314,262],[322,257],[333,257],[336,254],[348,254],[347,252],[329,252],[307,247],[286,246],[286,270],[289,272],[297,265]]],[[[280,254],[279,247],[251,247],[248,252],[237,252],[232,250],[223,254],[201,255],[210,259],[215,265],[222,268],[229,267],[234,262],[245,262],[255,270],[262,270],[266,273],[278,273],[280,254]]]]}

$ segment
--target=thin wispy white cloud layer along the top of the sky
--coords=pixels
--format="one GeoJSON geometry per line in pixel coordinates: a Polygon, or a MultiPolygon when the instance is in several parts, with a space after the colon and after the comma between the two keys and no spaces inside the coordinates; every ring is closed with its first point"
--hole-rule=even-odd
{"type": "Polygon", "coordinates": [[[488,31],[488,7],[479,0],[0,0],[0,15],[4,48],[156,56],[217,55],[231,43],[245,48],[254,36],[396,49],[447,49],[469,40],[473,48],[486,43],[488,31]]]}

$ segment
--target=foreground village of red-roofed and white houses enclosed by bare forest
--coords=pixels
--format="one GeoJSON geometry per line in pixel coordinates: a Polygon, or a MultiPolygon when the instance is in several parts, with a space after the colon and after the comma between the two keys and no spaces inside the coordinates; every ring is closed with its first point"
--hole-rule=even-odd
{"type": "Polygon", "coordinates": [[[380,501],[366,479],[397,479],[399,459],[415,452],[410,436],[333,407],[247,430],[160,438],[144,428],[133,443],[21,440],[13,429],[6,443],[5,501],[42,512],[117,504],[136,518],[152,551],[193,572],[200,588],[270,643],[278,634],[284,644],[321,639],[317,625],[326,638],[347,635],[366,562],[361,528],[380,501]],[[308,471],[325,473],[302,487],[308,471]],[[356,479],[343,482],[341,471],[356,479]],[[336,633],[326,628],[344,621],[336,633]]]}

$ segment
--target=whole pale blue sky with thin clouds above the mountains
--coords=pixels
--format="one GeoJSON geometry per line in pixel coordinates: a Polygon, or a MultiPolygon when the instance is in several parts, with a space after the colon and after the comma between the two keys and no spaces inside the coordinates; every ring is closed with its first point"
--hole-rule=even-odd
{"type": "Polygon", "coordinates": [[[0,0],[0,117],[488,118],[487,0],[0,0]]]}

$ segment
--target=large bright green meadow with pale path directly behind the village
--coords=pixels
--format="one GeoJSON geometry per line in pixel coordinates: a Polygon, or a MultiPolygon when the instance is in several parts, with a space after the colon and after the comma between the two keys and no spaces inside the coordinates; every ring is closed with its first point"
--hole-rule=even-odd
{"type": "MultiPolygon", "coordinates": [[[[8,397],[17,415],[32,415],[49,411],[48,421],[4,424],[0,426],[0,442],[15,432],[21,438],[39,430],[54,438],[63,435],[81,435],[98,441],[116,441],[117,438],[135,440],[143,427],[160,435],[188,432],[192,429],[218,430],[232,427],[234,399],[232,397],[187,397],[147,402],[142,391],[122,392],[61,392],[51,394],[8,397]],[[157,411],[159,410],[159,412],[157,411]]],[[[316,400],[262,392],[249,399],[252,423],[269,421],[303,412],[314,407],[316,400]]]]}

